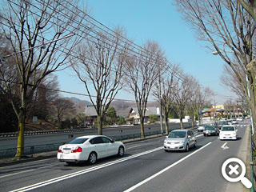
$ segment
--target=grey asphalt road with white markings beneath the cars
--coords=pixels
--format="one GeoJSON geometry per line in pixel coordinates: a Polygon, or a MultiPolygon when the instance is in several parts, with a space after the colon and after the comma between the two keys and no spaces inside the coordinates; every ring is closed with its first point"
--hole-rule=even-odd
{"type": "Polygon", "coordinates": [[[49,158],[1,167],[0,191],[242,191],[241,182],[227,182],[221,173],[227,158],[246,157],[249,126],[237,127],[237,141],[195,132],[198,147],[189,152],[165,152],[160,137],[126,143],[123,158],[104,158],[94,166],[49,158]]]}

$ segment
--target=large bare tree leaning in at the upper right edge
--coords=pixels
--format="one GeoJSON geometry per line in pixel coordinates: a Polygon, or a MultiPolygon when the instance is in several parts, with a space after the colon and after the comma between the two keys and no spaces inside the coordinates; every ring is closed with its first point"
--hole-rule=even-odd
{"type": "Polygon", "coordinates": [[[176,5],[198,38],[233,70],[255,124],[255,1],[176,0],[176,5]]]}

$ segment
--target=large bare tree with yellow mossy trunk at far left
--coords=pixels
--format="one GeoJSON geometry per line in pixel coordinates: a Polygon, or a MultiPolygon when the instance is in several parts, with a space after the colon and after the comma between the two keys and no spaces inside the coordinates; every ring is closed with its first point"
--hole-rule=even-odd
{"type": "MultiPolygon", "coordinates": [[[[6,90],[18,94],[20,103],[13,108],[18,117],[18,145],[16,158],[24,154],[24,130],[27,107],[34,90],[48,74],[66,67],[66,58],[86,30],[85,12],[78,11],[78,1],[4,1],[2,31],[12,48],[14,75],[17,75],[19,89],[14,93],[9,86],[5,71],[0,71],[6,90]],[[76,35],[73,35],[76,34],[76,35]]],[[[2,64],[3,62],[1,62],[2,64]]]]}

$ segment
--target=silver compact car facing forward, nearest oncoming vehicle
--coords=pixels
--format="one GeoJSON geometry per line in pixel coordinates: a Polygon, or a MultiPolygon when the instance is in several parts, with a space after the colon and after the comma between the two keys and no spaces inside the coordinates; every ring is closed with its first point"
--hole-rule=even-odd
{"type": "Polygon", "coordinates": [[[190,147],[197,146],[197,139],[192,130],[173,130],[164,141],[165,151],[184,150],[189,151],[190,147]]]}

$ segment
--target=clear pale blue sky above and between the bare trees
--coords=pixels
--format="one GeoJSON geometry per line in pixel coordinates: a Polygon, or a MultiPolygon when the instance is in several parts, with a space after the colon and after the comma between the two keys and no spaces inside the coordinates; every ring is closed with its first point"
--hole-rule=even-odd
{"type": "MultiPolygon", "coordinates": [[[[211,98],[217,105],[234,94],[223,86],[220,77],[225,62],[206,48],[206,43],[198,41],[190,25],[182,20],[182,14],[173,5],[173,0],[87,0],[90,16],[102,22],[110,29],[123,26],[130,39],[140,46],[146,40],[158,42],[165,51],[166,58],[173,64],[179,64],[187,73],[198,79],[204,87],[210,87],[216,94],[211,98]]],[[[60,90],[86,94],[85,86],[74,72],[65,70],[58,73],[60,90]]],[[[85,96],[64,94],[66,97],[85,96]]],[[[134,100],[134,95],[120,91],[116,98],[134,100]]],[[[154,98],[150,98],[154,101],[154,98]]]]}

